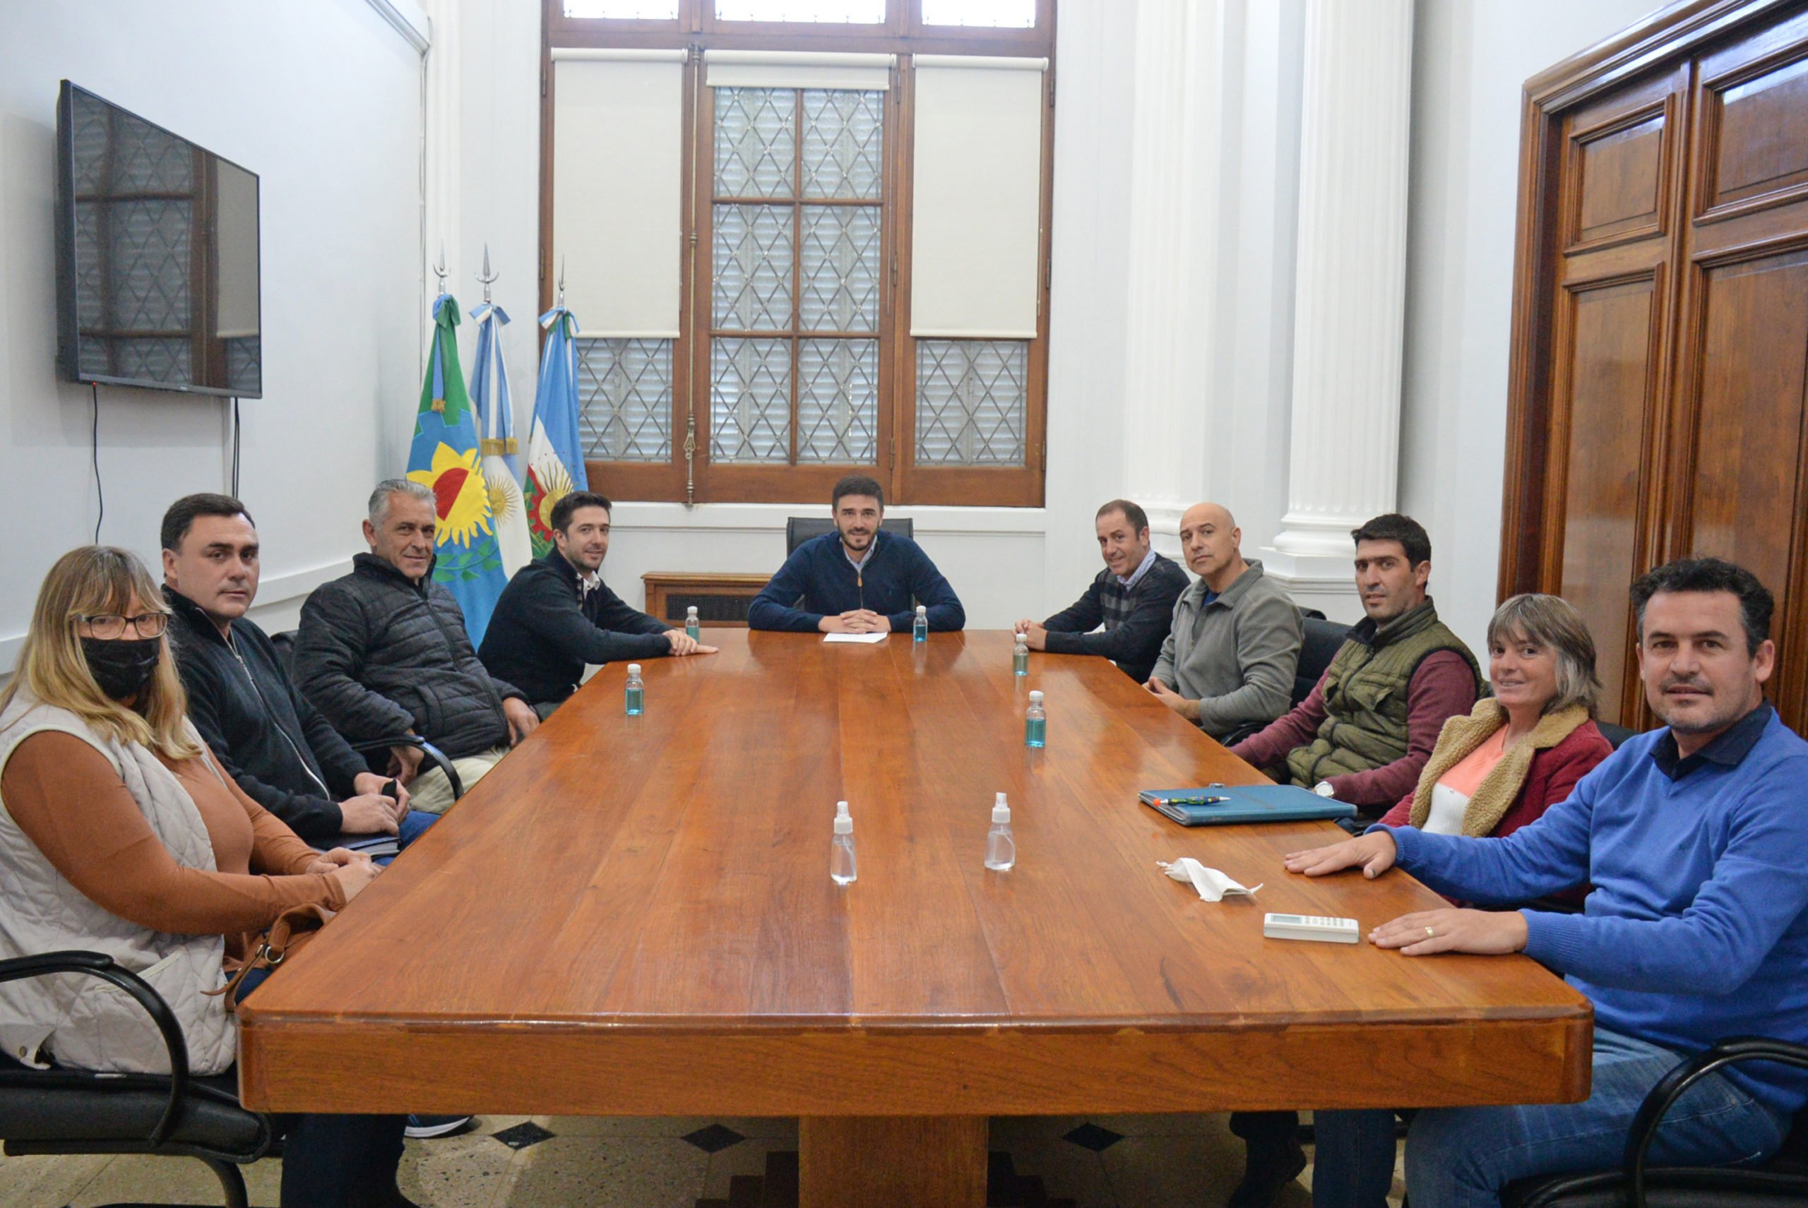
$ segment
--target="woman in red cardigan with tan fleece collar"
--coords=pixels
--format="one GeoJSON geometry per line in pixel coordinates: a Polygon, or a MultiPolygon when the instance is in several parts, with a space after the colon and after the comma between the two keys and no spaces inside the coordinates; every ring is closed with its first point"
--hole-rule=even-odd
{"type": "MultiPolygon", "coordinates": [[[[1387,826],[1446,835],[1506,835],[1539,821],[1613,754],[1595,725],[1595,638],[1555,595],[1515,595],[1488,622],[1493,696],[1445,722],[1419,787],[1387,826]]],[[[1287,866],[1305,854],[1287,857],[1287,866]]],[[[1577,886],[1578,901],[1582,886],[1577,886]]],[[[1385,1208],[1394,1181],[1394,1112],[1314,1116],[1316,1208],[1385,1208]]]]}

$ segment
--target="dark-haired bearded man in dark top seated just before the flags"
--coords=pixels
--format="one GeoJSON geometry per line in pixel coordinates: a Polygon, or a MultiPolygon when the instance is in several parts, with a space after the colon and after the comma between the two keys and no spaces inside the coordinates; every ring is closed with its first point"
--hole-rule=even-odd
{"type": "Polygon", "coordinates": [[[559,497],[553,548],[503,588],[477,658],[551,716],[584,675],[584,664],[662,655],[714,655],[683,629],[629,608],[602,582],[609,553],[609,501],[588,490],[559,497]]]}

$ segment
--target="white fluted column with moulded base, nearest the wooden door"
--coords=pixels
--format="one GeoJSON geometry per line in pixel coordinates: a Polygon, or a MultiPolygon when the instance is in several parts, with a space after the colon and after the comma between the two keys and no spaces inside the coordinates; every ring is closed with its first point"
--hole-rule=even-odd
{"type": "Polygon", "coordinates": [[[1287,512],[1262,559],[1354,620],[1349,530],[1396,506],[1412,0],[1307,0],[1304,76],[1287,512]]]}

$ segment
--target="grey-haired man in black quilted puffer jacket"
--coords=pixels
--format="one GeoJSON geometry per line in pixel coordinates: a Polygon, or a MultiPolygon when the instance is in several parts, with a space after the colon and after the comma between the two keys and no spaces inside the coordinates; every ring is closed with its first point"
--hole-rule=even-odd
{"type": "MultiPolygon", "coordinates": [[[[315,588],[302,606],[295,682],[351,740],[419,734],[452,760],[468,788],[541,720],[515,685],[477,662],[465,613],[434,582],[434,492],[392,477],[371,494],[363,539],[344,579],[315,588]]],[[[391,769],[414,788],[414,808],[438,814],[452,785],[419,770],[418,747],[392,747],[391,769]]]]}

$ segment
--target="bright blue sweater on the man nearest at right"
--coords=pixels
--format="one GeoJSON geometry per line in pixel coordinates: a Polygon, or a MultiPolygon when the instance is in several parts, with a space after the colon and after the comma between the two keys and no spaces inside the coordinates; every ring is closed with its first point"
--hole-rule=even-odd
{"type": "MultiPolygon", "coordinates": [[[[1808,743],[1766,703],[1674,758],[1667,729],[1640,734],[1502,839],[1394,828],[1399,866],[1483,904],[1593,882],[1587,913],[1521,913],[1526,955],[1568,975],[1602,1027],[1681,1052],[1808,1043],[1808,743]]],[[[1781,1112],[1808,1098],[1804,1071],[1727,1076],[1781,1112]]]]}

